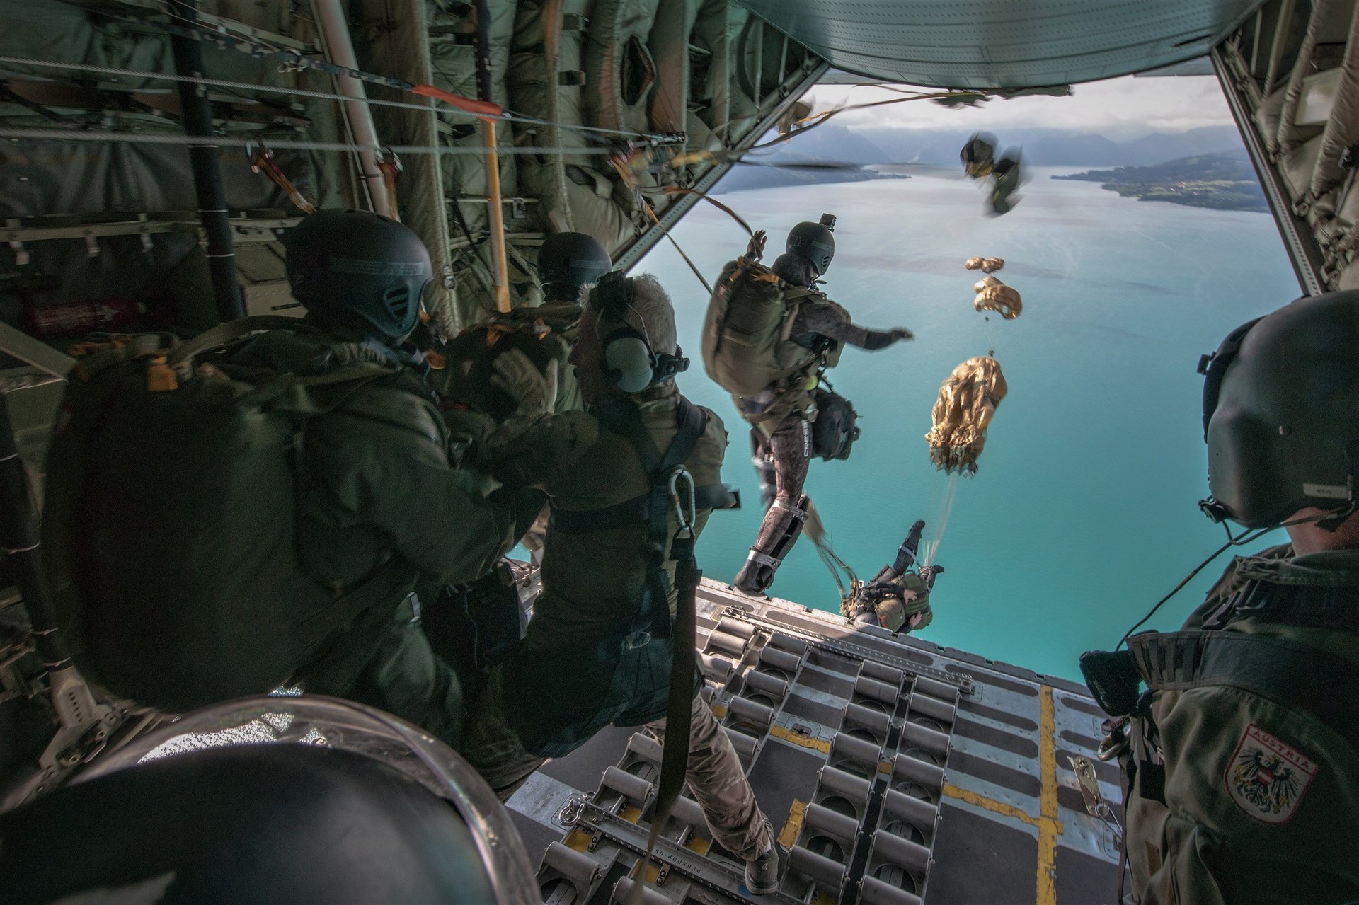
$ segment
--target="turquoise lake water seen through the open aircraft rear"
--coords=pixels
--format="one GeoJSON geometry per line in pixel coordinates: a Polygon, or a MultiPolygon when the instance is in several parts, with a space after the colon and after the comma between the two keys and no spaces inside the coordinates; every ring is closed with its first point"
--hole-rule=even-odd
{"type": "MultiPolygon", "coordinates": [[[[931,406],[959,361],[995,344],[1010,394],[980,473],[958,485],[936,556],[947,572],[920,637],[1072,679],[1082,651],[1113,645],[1223,542],[1196,507],[1207,457],[1195,367],[1231,327],[1299,295],[1269,215],[1140,202],[1048,178],[1075,171],[1038,168],[1021,204],[993,219],[981,213],[978,186],[951,171],[720,196],[769,231],[766,261],[794,223],[836,213],[826,292],[859,323],[916,332],[881,352],[847,349],[830,374],[860,412],[863,436],[845,462],[815,459],[807,492],[860,576],[893,558],[915,519],[935,518],[947,478],[923,439],[931,406]],[[998,276],[1022,294],[1021,318],[988,325],[973,310],[981,274],[962,266],[973,255],[1006,260],[998,276]]],[[[673,235],[709,281],[746,243],[707,204],[673,235]]],[[[746,508],[715,514],[699,546],[704,573],[731,580],[761,519],[747,428],[703,372],[697,279],[666,242],[640,272],[674,298],[680,342],[694,360],[681,389],[731,433],[723,473],[746,508]]],[[[1219,571],[1204,569],[1151,626],[1178,626],[1219,571]]],[[[771,594],[839,610],[806,538],[771,594]]]]}

